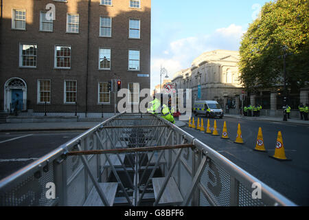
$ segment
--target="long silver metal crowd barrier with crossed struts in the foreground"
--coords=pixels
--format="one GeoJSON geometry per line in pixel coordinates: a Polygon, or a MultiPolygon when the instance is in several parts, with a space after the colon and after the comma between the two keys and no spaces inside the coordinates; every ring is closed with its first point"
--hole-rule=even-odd
{"type": "Polygon", "coordinates": [[[174,124],[156,115],[120,113],[2,179],[0,205],[295,203],[174,124]],[[256,183],[262,188],[255,199],[256,183]]]}

